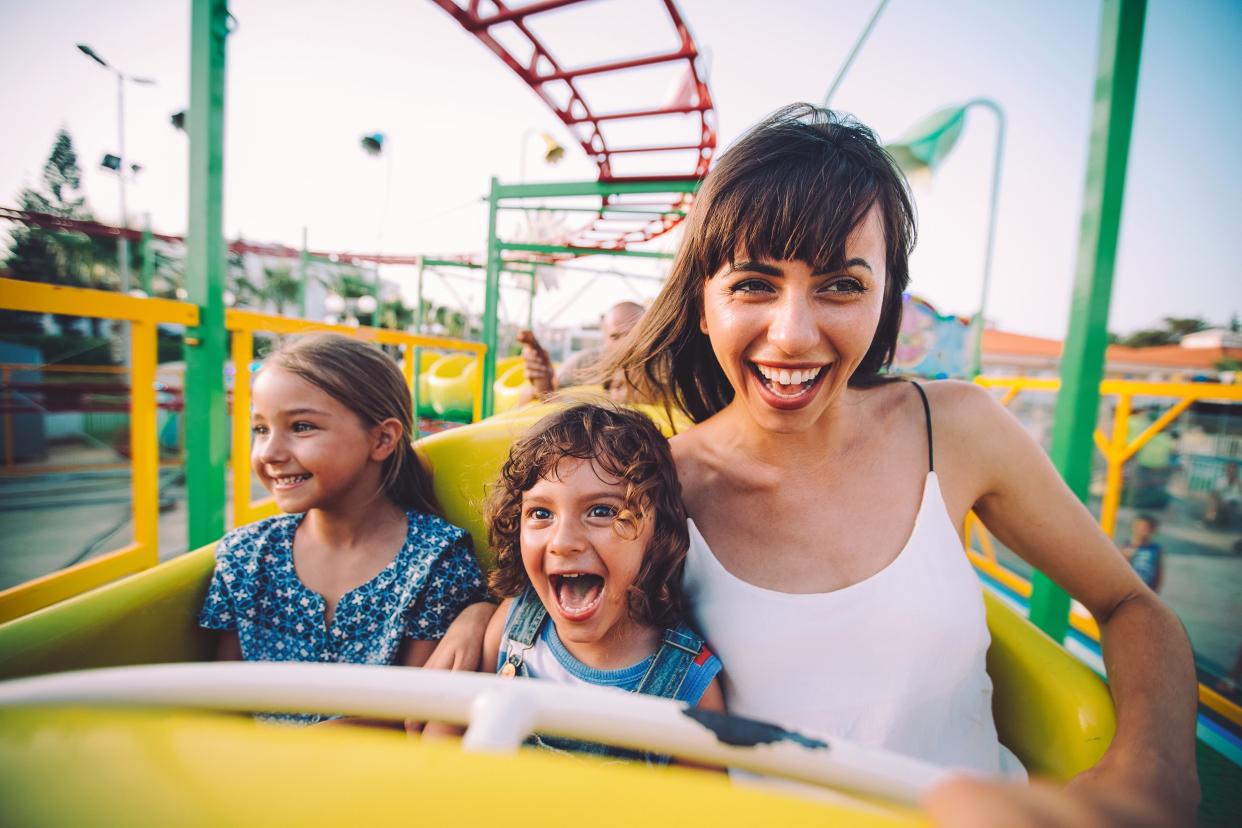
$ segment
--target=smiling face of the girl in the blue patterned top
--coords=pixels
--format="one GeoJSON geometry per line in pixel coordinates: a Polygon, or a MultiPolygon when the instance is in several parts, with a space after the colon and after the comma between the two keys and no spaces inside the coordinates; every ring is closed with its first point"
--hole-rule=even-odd
{"type": "Polygon", "coordinates": [[[282,511],[347,508],[379,489],[391,452],[384,427],[366,428],[335,397],[277,366],[258,372],[252,400],[251,466],[282,511]]]}

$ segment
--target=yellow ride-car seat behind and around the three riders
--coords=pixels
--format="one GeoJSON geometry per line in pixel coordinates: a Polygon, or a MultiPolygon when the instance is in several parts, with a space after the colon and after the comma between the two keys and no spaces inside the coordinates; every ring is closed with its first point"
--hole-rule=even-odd
{"type": "MultiPolygon", "coordinates": [[[[471,533],[484,566],[492,559],[479,505],[509,444],[549,410],[529,406],[420,443],[435,470],[445,515],[471,533]]],[[[667,420],[655,418],[669,431],[667,420]]],[[[212,641],[199,628],[197,612],[211,576],[212,549],[0,624],[0,678],[209,659],[212,641]]],[[[1033,775],[1068,780],[1094,765],[1113,739],[1108,690],[1028,621],[992,596],[985,598],[992,636],[987,669],[1001,741],[1033,775]]]]}

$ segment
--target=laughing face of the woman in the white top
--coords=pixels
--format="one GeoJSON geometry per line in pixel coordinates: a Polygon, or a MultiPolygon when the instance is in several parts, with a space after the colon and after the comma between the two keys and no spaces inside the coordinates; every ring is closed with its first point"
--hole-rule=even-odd
{"type": "Polygon", "coordinates": [[[840,271],[814,272],[740,251],[703,287],[699,324],[733,385],[733,405],[765,430],[816,422],[871,348],[887,284],[878,209],[846,240],[845,261],[840,271]]]}

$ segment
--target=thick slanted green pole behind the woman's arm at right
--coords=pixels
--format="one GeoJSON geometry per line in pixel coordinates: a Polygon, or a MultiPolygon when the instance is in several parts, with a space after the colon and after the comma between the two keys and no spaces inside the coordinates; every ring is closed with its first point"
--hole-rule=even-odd
{"type": "MultiPolygon", "coordinates": [[[[1145,14],[1146,0],[1104,0],[1102,12],[1073,305],[1061,356],[1061,392],[1051,451],[1052,462],[1083,503],[1095,451],[1092,434],[1108,346],[1108,305],[1122,227],[1145,14]]],[[[1035,574],[1031,621],[1057,641],[1064,639],[1069,627],[1069,596],[1042,572],[1035,574]]]]}

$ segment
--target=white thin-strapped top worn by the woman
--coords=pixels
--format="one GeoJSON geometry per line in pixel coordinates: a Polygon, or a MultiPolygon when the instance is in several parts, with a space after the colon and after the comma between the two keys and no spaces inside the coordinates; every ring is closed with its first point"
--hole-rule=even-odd
{"type": "Polygon", "coordinates": [[[832,592],[732,575],[688,521],[686,591],[724,664],[729,711],[938,765],[1025,776],[996,737],[991,637],[935,472],[892,564],[832,592]]]}

